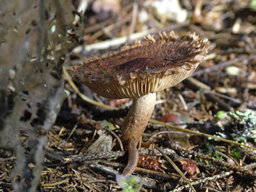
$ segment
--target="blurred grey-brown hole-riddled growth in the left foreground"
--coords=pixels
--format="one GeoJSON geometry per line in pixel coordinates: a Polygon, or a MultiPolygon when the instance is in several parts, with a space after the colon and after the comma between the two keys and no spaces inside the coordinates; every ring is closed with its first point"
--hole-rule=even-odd
{"type": "Polygon", "coordinates": [[[73,25],[70,0],[2,0],[0,7],[0,144],[11,143],[17,156],[12,178],[23,179],[13,181],[13,189],[34,192],[47,132],[65,98],[62,66],[79,42],[82,23],[73,25]],[[29,134],[22,144],[20,130],[29,134]]]}

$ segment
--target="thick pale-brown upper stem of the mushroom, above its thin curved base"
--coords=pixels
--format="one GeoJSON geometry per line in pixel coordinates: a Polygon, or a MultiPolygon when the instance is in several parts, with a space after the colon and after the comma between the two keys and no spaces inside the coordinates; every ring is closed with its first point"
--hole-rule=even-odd
{"type": "Polygon", "coordinates": [[[134,99],[128,114],[122,124],[122,141],[128,145],[131,138],[137,146],[150,119],[156,102],[156,93],[149,93],[134,99]]]}

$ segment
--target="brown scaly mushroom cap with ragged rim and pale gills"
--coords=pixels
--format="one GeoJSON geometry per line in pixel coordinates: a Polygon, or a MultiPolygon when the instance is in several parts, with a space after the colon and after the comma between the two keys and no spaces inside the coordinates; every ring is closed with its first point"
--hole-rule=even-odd
{"type": "Polygon", "coordinates": [[[70,76],[109,99],[139,98],[175,86],[206,57],[209,42],[190,32],[181,37],[173,31],[159,36],[155,40],[148,35],[106,58],[72,66],[70,76]]]}

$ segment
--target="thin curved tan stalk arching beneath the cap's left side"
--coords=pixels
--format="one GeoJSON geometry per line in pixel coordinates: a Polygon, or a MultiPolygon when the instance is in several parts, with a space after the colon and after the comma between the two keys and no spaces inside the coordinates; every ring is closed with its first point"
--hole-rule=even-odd
{"type": "Polygon", "coordinates": [[[113,107],[113,106],[110,106],[110,105],[105,105],[105,104],[102,104],[102,103],[99,103],[95,100],[92,100],[90,99],[89,97],[85,96],[84,94],[82,94],[79,89],[77,88],[77,86],[75,85],[75,83],[73,82],[73,80],[71,80],[69,74],[67,73],[67,70],[65,69],[65,67],[63,67],[63,72],[64,72],[64,75],[65,77],[67,78],[67,81],[68,83],[70,84],[70,86],[74,89],[75,92],[77,92],[77,94],[86,102],[88,103],[91,103],[93,105],[96,105],[96,106],[100,106],[100,107],[103,107],[105,109],[115,109],[115,110],[118,110],[117,107],[113,107]]]}

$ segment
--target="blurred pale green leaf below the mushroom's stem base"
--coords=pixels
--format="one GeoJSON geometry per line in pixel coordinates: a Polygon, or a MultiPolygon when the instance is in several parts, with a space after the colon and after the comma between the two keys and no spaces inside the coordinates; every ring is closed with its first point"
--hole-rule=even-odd
{"type": "Polygon", "coordinates": [[[142,186],[141,179],[137,176],[116,175],[116,182],[123,188],[123,192],[139,192],[142,186]]]}

